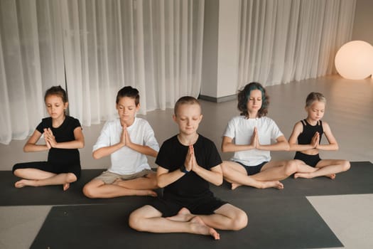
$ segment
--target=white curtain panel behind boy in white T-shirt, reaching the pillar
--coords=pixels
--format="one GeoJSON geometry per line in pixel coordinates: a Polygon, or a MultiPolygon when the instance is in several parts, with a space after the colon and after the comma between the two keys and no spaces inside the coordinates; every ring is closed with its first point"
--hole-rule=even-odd
{"type": "Polygon", "coordinates": [[[63,1],[70,114],[82,124],[117,115],[124,85],[140,92],[141,113],[198,96],[204,1],[63,1]]]}

